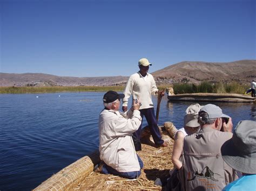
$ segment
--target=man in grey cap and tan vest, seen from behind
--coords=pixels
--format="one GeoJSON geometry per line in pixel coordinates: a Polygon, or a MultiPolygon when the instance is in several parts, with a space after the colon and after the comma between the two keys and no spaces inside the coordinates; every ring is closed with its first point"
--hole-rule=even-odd
{"type": "Polygon", "coordinates": [[[221,146],[232,137],[232,119],[213,104],[198,113],[200,131],[184,139],[179,176],[183,190],[221,190],[238,178],[221,157],[221,146]],[[228,119],[228,122],[225,122],[228,119]]]}

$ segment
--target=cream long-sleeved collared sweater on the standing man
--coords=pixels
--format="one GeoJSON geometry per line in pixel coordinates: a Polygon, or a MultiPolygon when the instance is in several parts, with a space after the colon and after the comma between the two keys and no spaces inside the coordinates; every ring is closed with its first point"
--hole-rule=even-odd
{"type": "Polygon", "coordinates": [[[142,106],[139,109],[153,108],[151,95],[158,91],[154,77],[147,73],[146,80],[139,73],[132,74],[126,83],[124,90],[123,106],[127,107],[128,100],[132,95],[133,99],[139,98],[142,106]]]}

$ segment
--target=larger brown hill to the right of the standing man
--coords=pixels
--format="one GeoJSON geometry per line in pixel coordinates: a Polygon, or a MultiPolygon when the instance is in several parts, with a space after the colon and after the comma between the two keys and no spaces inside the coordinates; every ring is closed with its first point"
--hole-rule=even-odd
{"type": "Polygon", "coordinates": [[[158,81],[174,82],[251,82],[256,80],[256,60],[234,62],[184,61],[153,72],[158,81]]]}

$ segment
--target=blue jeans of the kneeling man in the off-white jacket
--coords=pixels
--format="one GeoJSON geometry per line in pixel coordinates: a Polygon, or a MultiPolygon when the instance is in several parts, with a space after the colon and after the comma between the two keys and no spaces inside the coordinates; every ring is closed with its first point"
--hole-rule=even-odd
{"type": "MultiPolygon", "coordinates": [[[[143,168],[143,161],[142,159],[139,158],[139,155],[137,154],[138,157],[138,161],[139,161],[139,166],[140,169],[143,168]]],[[[140,171],[132,171],[132,172],[118,172],[116,169],[107,166],[106,164],[103,165],[102,171],[103,174],[113,174],[113,175],[117,175],[117,176],[121,176],[123,178],[127,178],[127,179],[137,179],[140,175],[140,171]]]]}

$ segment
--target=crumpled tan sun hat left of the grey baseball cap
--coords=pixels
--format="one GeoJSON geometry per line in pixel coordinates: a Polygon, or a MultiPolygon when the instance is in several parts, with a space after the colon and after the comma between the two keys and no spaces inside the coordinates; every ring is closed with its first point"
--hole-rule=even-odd
{"type": "Polygon", "coordinates": [[[201,105],[193,103],[186,109],[186,115],[184,116],[184,126],[190,126],[191,128],[197,128],[200,126],[198,123],[198,112],[201,109],[201,105]]]}

